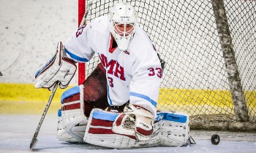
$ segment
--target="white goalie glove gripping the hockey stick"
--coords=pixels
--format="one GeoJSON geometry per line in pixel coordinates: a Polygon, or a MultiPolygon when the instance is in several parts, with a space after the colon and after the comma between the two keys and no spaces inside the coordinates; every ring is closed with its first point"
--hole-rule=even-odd
{"type": "Polygon", "coordinates": [[[59,86],[64,89],[69,85],[76,69],[75,61],[67,58],[64,46],[60,42],[53,58],[37,71],[34,87],[51,90],[56,82],[60,82],[59,86]]]}

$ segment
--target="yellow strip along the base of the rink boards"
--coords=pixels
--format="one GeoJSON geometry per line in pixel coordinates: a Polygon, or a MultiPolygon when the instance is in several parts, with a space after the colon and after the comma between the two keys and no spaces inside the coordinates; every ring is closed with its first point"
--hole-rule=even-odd
{"type": "MultiPolygon", "coordinates": [[[[70,87],[68,87],[70,88],[70,87]]],[[[35,89],[30,84],[0,84],[0,112],[1,114],[41,114],[45,108],[50,91],[35,89]]],[[[61,94],[65,90],[58,89],[51,103],[49,113],[55,113],[60,107],[61,94]]],[[[246,95],[256,95],[256,92],[247,92],[246,95]]],[[[249,97],[246,97],[249,98],[249,97]]],[[[248,103],[253,109],[253,103],[248,103]]],[[[208,113],[222,108],[223,111],[233,109],[230,92],[227,90],[194,90],[194,89],[160,89],[157,109],[172,111],[197,111],[207,109],[208,113]],[[186,107],[183,107],[186,106],[186,107]],[[185,109],[184,109],[185,108],[185,109]]],[[[223,112],[223,113],[225,113],[223,112]]],[[[232,113],[232,111],[230,111],[232,113]]]]}

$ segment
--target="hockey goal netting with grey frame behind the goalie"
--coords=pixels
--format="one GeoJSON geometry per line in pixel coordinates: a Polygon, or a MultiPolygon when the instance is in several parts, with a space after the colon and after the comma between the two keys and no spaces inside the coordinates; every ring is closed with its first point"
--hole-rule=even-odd
{"type": "MultiPolygon", "coordinates": [[[[87,22],[117,2],[94,1],[87,22]]],[[[256,129],[256,1],[127,3],[165,60],[157,109],[186,112],[192,129],[256,129]]],[[[86,76],[97,63],[86,63],[86,76]]]]}

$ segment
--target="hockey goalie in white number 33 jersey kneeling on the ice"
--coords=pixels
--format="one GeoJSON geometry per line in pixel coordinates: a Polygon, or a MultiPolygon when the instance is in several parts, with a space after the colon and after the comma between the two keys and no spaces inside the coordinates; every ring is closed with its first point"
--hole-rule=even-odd
{"type": "Polygon", "coordinates": [[[189,117],[157,111],[162,66],[154,45],[138,26],[135,9],[118,3],[108,16],[80,28],[41,68],[35,87],[66,88],[76,63],[94,54],[101,63],[83,85],[61,95],[57,138],[117,149],[189,144],[189,117]]]}

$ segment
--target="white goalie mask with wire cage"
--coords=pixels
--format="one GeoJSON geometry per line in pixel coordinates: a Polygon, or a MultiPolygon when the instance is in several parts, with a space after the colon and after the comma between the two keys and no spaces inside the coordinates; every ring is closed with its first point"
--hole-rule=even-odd
{"type": "Polygon", "coordinates": [[[108,14],[109,30],[113,35],[118,48],[127,50],[129,42],[135,34],[138,15],[130,4],[118,3],[108,14]]]}

